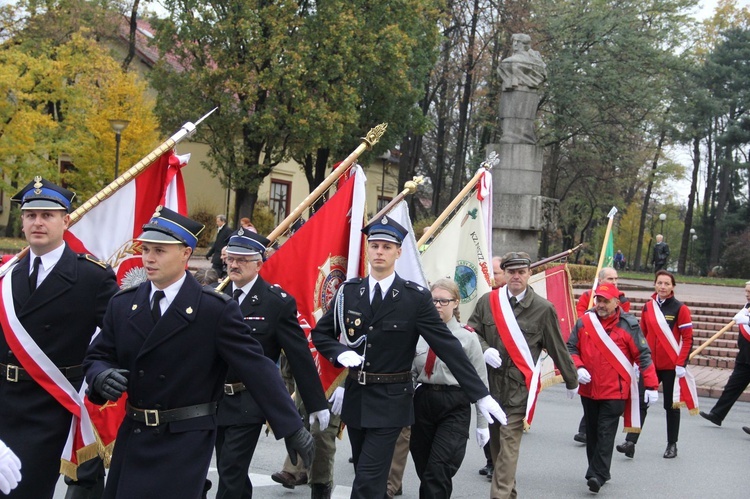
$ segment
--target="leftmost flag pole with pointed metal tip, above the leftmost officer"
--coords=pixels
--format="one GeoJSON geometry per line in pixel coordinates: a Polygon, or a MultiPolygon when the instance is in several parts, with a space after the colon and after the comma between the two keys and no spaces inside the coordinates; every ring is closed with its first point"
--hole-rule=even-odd
{"type": "MultiPolygon", "coordinates": [[[[195,133],[196,127],[206,118],[211,116],[211,114],[216,111],[218,107],[213,108],[208,113],[204,114],[201,119],[196,121],[195,123],[186,122],[184,125],[182,125],[182,128],[169,137],[167,140],[162,142],[161,145],[159,145],[156,149],[148,153],[143,159],[141,159],[138,163],[134,164],[130,168],[128,168],[127,171],[125,171],[122,175],[114,179],[109,185],[107,185],[104,189],[100,190],[96,194],[94,194],[88,201],[83,203],[81,206],[79,206],[75,211],[73,211],[70,214],[70,222],[68,223],[68,229],[75,224],[78,220],[81,219],[83,215],[91,211],[94,207],[96,207],[99,203],[104,201],[105,199],[111,197],[115,192],[120,190],[125,184],[133,180],[135,177],[143,173],[146,168],[151,166],[154,161],[159,159],[159,157],[164,154],[165,152],[172,149],[175,145],[177,145],[181,140],[190,137],[195,133]]],[[[2,267],[0,267],[0,278],[3,277],[8,270],[13,266],[18,260],[23,258],[26,253],[29,251],[29,247],[26,246],[24,249],[22,249],[18,254],[13,256],[10,260],[8,260],[2,267]]]]}

